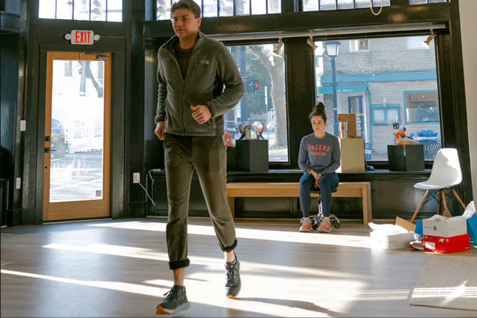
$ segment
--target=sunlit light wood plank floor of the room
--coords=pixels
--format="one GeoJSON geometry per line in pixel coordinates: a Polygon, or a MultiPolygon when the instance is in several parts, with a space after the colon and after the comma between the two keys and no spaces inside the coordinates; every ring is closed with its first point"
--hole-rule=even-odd
{"type": "MultiPolygon", "coordinates": [[[[165,219],[2,229],[2,317],[153,317],[172,286],[165,219]]],[[[408,305],[430,253],[374,250],[367,226],[299,233],[298,221],[237,220],[240,299],[224,295],[208,219],[189,221],[184,317],[475,317],[408,305]]],[[[453,256],[477,257],[477,249],[453,256]]]]}

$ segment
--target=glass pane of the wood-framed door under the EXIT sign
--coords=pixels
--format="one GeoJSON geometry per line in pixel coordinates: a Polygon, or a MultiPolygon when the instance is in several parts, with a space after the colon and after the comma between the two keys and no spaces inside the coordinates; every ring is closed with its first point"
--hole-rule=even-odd
{"type": "Polygon", "coordinates": [[[104,64],[53,62],[50,202],[103,199],[104,64]]]}

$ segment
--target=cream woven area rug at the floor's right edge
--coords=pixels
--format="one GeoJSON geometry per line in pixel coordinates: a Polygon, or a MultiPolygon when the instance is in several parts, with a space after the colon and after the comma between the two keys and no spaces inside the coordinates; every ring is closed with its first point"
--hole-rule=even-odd
{"type": "Polygon", "coordinates": [[[477,257],[432,257],[411,293],[410,304],[477,311],[477,257]]]}

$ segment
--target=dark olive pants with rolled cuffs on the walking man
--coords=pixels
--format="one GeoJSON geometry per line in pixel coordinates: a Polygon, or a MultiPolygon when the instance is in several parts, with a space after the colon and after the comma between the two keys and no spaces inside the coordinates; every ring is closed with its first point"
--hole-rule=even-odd
{"type": "Polygon", "coordinates": [[[169,268],[190,264],[187,258],[187,219],[192,173],[197,171],[209,214],[222,251],[237,245],[227,202],[227,153],[223,136],[178,136],[164,139],[169,218],[166,229],[169,268]]]}

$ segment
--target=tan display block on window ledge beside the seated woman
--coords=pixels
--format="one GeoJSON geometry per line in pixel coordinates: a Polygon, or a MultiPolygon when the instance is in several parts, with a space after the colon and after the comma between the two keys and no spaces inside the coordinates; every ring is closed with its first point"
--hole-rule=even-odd
{"type": "Polygon", "coordinates": [[[339,140],[341,165],[337,172],[365,172],[364,139],[343,138],[339,140]]]}

